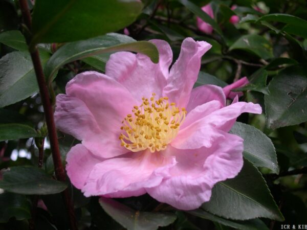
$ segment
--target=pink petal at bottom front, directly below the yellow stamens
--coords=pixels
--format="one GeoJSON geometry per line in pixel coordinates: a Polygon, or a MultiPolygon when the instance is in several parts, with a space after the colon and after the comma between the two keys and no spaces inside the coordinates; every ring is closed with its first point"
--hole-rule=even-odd
{"type": "Polygon", "coordinates": [[[173,157],[149,151],[107,159],[93,167],[82,191],[85,196],[139,196],[146,193],[144,188],[159,185],[174,164],[173,157]]]}

